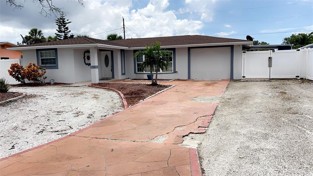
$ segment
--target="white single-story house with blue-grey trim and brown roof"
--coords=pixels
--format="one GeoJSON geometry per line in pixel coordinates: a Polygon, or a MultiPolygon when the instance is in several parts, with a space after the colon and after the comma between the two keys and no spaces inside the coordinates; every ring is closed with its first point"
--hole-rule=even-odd
{"type": "Polygon", "coordinates": [[[9,48],[21,50],[21,65],[37,63],[47,69],[47,80],[78,83],[102,78],[146,78],[139,49],[155,41],[172,52],[171,64],[161,69],[160,79],[241,79],[242,48],[252,41],[203,35],[121,39],[114,41],[74,38],[9,48]]]}

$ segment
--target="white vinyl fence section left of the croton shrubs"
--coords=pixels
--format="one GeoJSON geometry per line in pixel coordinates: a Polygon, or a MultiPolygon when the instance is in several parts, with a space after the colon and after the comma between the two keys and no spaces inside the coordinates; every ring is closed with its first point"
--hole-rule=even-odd
{"type": "Polygon", "coordinates": [[[12,63],[20,64],[19,59],[2,59],[0,60],[0,78],[5,78],[9,84],[18,84],[19,82],[12,78],[9,73],[8,69],[10,68],[12,63]]]}

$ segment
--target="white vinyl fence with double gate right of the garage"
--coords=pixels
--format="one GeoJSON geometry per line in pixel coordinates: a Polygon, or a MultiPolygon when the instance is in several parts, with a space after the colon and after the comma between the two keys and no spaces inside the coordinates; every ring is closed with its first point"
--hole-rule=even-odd
{"type": "Polygon", "coordinates": [[[242,77],[313,80],[313,49],[243,51],[242,77]]]}

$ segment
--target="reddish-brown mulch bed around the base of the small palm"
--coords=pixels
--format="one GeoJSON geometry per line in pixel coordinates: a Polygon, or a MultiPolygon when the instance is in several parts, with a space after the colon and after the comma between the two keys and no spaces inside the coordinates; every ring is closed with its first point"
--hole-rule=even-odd
{"type": "Polygon", "coordinates": [[[123,83],[98,83],[92,84],[100,87],[108,87],[118,91],[121,91],[125,96],[128,105],[134,105],[138,101],[147,98],[163,89],[170,87],[171,85],[149,85],[149,84],[123,84],[123,83]]]}

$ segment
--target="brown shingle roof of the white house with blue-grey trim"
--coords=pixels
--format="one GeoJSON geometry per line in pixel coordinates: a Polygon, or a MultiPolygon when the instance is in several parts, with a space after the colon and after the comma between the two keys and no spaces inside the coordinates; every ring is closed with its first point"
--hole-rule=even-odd
{"type": "Polygon", "coordinates": [[[122,39],[122,40],[114,40],[114,41],[80,37],[80,38],[57,40],[57,41],[44,42],[44,43],[38,43],[38,44],[21,45],[18,47],[72,45],[72,44],[107,44],[107,45],[122,46],[122,47],[145,47],[155,41],[161,42],[162,46],[172,46],[172,45],[247,42],[248,40],[228,39],[228,38],[211,37],[211,36],[205,36],[205,35],[181,35],[181,36],[138,38],[138,39],[126,39],[126,40],[122,39]]]}

